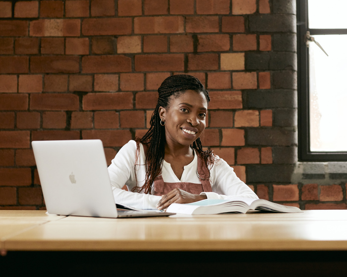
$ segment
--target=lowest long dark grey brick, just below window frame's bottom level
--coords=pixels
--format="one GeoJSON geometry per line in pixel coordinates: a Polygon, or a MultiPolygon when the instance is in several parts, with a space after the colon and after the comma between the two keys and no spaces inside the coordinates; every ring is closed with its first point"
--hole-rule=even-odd
{"type": "Polygon", "coordinates": [[[247,183],[290,183],[293,165],[247,165],[247,183]]]}

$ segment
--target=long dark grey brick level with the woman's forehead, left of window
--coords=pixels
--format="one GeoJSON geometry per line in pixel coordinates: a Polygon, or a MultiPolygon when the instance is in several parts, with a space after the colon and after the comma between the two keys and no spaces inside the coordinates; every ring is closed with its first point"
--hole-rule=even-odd
{"type": "Polygon", "coordinates": [[[244,108],[296,108],[297,92],[294,90],[245,91],[244,108]]]}

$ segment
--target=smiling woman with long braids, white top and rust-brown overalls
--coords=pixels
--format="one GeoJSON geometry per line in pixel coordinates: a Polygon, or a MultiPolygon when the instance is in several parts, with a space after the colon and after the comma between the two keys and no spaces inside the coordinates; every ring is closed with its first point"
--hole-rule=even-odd
{"type": "Polygon", "coordinates": [[[210,97],[200,81],[174,75],[158,92],[150,129],[125,144],[109,166],[116,203],[165,210],[206,198],[258,198],[223,159],[202,149],[210,97]]]}

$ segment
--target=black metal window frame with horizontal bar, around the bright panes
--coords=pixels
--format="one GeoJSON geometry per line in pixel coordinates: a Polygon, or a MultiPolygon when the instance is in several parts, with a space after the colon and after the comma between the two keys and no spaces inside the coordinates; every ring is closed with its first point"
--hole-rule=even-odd
{"type": "MultiPolygon", "coordinates": [[[[347,152],[310,151],[309,60],[306,32],[310,35],[347,35],[347,29],[308,28],[308,1],[296,0],[297,18],[297,91],[298,91],[298,159],[307,162],[347,161],[347,152]]],[[[346,142],[347,143],[347,142],[346,142]]]]}

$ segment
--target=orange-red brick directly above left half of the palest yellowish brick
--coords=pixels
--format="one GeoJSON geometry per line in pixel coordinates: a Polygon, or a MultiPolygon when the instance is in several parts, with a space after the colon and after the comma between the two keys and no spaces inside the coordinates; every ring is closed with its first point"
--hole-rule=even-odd
{"type": "Polygon", "coordinates": [[[229,51],[230,37],[227,34],[198,35],[198,52],[229,51]]]}

